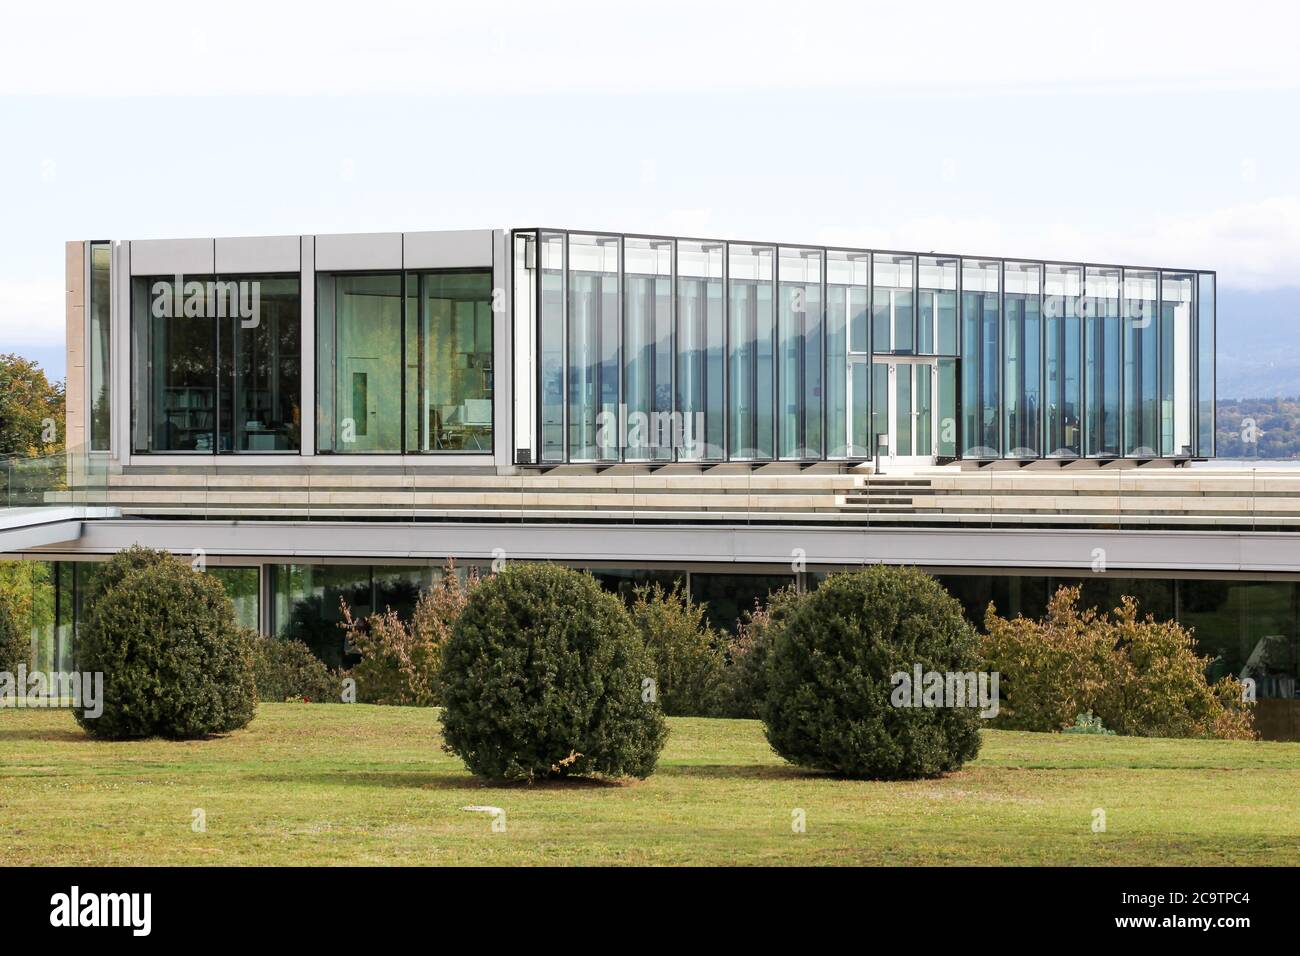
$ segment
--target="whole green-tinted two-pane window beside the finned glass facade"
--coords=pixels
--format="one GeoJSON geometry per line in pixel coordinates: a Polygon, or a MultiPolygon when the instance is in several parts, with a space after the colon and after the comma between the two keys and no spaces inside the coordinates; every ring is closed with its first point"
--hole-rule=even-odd
{"type": "Polygon", "coordinates": [[[491,298],[488,271],[318,273],[317,450],[490,454],[491,298]]]}

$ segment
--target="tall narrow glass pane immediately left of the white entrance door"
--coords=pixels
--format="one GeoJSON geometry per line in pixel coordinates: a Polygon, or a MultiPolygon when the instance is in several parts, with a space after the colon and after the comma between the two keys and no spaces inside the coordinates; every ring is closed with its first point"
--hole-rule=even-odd
{"type": "Polygon", "coordinates": [[[871,336],[867,252],[826,254],[826,453],[870,458],[871,336]]]}

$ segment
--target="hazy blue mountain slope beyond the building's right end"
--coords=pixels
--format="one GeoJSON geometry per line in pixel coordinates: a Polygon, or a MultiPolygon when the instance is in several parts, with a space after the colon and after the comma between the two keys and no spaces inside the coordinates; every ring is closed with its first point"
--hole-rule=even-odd
{"type": "Polygon", "coordinates": [[[1218,398],[1300,395],[1300,286],[1218,293],[1218,398]]]}

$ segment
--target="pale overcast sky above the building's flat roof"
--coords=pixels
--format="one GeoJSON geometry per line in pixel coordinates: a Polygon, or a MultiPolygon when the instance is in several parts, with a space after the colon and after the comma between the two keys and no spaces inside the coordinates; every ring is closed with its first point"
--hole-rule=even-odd
{"type": "Polygon", "coordinates": [[[5,4],[0,351],[61,350],[82,238],[542,224],[1300,285],[1297,10],[5,4]]]}

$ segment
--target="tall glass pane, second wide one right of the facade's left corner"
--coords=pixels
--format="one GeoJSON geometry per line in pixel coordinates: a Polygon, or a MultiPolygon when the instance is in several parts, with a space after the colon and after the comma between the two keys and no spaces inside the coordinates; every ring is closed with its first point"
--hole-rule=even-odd
{"type": "Polygon", "coordinates": [[[623,258],[625,457],[672,460],[672,239],[624,239],[623,258]]]}

